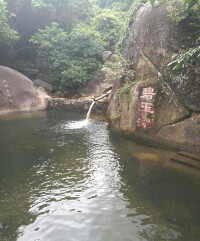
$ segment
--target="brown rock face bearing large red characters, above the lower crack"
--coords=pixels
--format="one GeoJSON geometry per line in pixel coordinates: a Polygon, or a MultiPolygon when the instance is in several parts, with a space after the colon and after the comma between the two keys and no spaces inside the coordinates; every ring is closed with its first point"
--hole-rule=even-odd
{"type": "MultiPolygon", "coordinates": [[[[118,81],[115,90],[122,83],[118,81]]],[[[162,126],[170,125],[189,115],[181,103],[171,97],[159,81],[140,81],[130,94],[119,96],[113,91],[108,107],[108,120],[115,129],[134,133],[138,137],[154,137],[162,126]],[[131,97],[131,99],[130,99],[131,97]]]]}

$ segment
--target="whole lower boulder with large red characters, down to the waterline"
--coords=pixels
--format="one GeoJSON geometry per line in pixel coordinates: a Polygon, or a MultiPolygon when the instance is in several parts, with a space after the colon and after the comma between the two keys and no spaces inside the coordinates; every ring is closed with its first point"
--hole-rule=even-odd
{"type": "Polygon", "coordinates": [[[130,90],[131,100],[116,91],[121,81],[116,82],[108,106],[108,122],[113,129],[147,143],[200,154],[200,115],[190,117],[159,81],[138,82],[130,90]]]}

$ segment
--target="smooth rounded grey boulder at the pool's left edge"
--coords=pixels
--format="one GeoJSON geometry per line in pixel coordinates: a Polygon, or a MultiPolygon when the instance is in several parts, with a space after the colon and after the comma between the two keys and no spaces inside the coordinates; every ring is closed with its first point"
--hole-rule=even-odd
{"type": "Polygon", "coordinates": [[[0,114],[47,108],[45,96],[19,72],[0,66],[0,114]]]}

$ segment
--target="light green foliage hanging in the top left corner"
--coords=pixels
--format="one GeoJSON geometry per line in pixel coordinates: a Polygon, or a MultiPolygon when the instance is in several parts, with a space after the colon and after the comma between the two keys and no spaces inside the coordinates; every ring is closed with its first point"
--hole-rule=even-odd
{"type": "Polygon", "coordinates": [[[19,39],[17,32],[8,25],[7,13],[5,1],[0,0],[0,44],[3,45],[19,39]]]}

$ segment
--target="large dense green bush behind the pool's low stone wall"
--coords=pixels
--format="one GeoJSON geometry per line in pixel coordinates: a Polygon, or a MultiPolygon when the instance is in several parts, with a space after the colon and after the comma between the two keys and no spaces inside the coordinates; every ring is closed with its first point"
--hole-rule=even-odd
{"type": "Polygon", "coordinates": [[[52,23],[30,41],[38,46],[59,88],[84,85],[100,68],[102,43],[89,26],[79,24],[67,35],[58,23],[52,23]]]}

